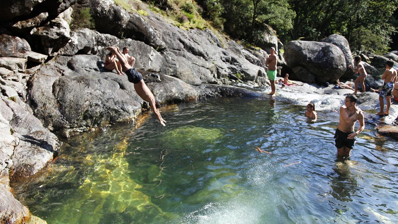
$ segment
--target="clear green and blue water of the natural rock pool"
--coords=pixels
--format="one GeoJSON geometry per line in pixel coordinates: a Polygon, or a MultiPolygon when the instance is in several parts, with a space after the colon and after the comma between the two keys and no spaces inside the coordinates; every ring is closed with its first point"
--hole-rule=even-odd
{"type": "Polygon", "coordinates": [[[220,98],[163,114],[68,139],[19,199],[49,224],[398,222],[398,144],[373,126],[338,161],[337,112],[220,98]]]}

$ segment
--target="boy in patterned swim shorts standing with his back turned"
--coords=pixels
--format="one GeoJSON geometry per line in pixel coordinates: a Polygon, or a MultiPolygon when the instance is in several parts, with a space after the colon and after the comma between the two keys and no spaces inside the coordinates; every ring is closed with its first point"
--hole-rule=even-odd
{"type": "Polygon", "coordinates": [[[380,111],[376,115],[379,116],[388,116],[388,112],[390,110],[392,89],[394,88],[394,83],[397,81],[397,71],[392,66],[394,66],[394,61],[391,59],[386,61],[386,71],[384,71],[384,74],[381,77],[381,79],[384,79],[384,83],[378,97],[380,102],[380,111]],[[386,110],[383,112],[384,98],[386,98],[387,106],[386,110]]]}

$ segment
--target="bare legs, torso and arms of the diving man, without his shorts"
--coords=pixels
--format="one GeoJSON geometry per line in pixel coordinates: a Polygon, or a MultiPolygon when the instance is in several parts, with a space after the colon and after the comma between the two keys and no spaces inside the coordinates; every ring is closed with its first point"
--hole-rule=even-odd
{"type": "MultiPolygon", "coordinates": [[[[119,48],[107,47],[106,49],[111,51],[112,53],[115,53],[116,57],[119,59],[119,62],[120,62],[123,72],[132,68],[131,65],[129,65],[129,63],[127,63],[125,57],[123,57],[119,48]]],[[[163,120],[158,108],[156,108],[155,97],[152,94],[152,92],[150,91],[150,89],[148,88],[148,86],[146,86],[146,84],[144,83],[144,80],[141,79],[141,81],[139,83],[135,83],[134,89],[143,100],[145,100],[146,102],[149,102],[150,107],[152,108],[153,112],[155,113],[155,116],[159,120],[160,124],[162,124],[163,126],[166,126],[166,124],[164,124],[164,123],[166,123],[166,121],[163,120]]]]}

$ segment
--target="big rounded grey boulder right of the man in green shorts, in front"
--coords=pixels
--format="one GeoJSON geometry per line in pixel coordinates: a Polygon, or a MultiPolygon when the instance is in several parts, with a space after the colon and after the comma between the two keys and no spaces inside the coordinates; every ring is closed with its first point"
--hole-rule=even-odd
{"type": "MultiPolygon", "coordinates": [[[[316,83],[334,83],[347,70],[343,52],[331,43],[290,41],[285,46],[284,56],[287,65],[292,70],[295,67],[306,69],[314,76],[316,83]]],[[[292,79],[304,81],[296,74],[291,75],[292,79]]],[[[309,80],[308,78],[305,79],[306,81],[309,80]]]]}

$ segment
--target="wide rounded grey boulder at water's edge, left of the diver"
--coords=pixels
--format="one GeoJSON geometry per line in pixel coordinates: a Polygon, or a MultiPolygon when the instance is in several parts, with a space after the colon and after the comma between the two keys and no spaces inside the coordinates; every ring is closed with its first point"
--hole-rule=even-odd
{"type": "Polygon", "coordinates": [[[29,102],[45,127],[68,137],[137,118],[142,100],[126,76],[38,75],[29,82],[29,102]]]}

